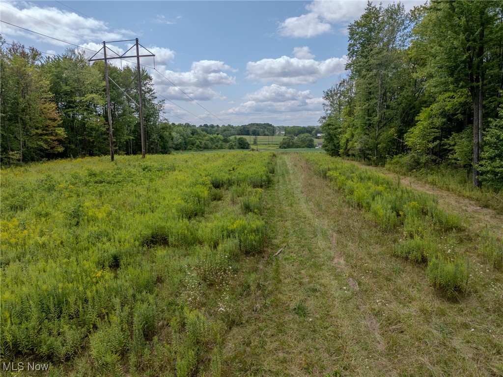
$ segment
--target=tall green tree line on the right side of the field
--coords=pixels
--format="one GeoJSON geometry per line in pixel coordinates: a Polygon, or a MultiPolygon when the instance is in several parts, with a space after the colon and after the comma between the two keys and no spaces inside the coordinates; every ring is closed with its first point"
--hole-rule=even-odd
{"type": "Polygon", "coordinates": [[[367,4],[347,78],[324,92],[323,147],[405,170],[465,169],[503,188],[503,3],[367,4]]]}

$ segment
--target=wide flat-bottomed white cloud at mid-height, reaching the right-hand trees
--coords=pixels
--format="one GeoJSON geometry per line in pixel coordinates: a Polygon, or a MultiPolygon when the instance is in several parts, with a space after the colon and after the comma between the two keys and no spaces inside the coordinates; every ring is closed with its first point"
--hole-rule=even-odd
{"type": "Polygon", "coordinates": [[[246,64],[248,79],[281,85],[314,84],[317,78],[344,72],[346,56],[326,60],[299,59],[282,56],[246,64]]]}

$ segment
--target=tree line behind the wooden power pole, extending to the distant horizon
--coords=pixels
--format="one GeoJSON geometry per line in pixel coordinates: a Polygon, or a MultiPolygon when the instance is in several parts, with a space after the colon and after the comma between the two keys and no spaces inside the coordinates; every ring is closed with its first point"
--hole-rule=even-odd
{"type": "MultiPolygon", "coordinates": [[[[109,153],[104,62],[67,49],[43,57],[34,47],[0,36],[0,158],[5,164],[109,153]]],[[[136,67],[109,66],[114,153],[141,153],[136,67]],[[116,84],[114,84],[116,83],[116,84]]],[[[271,123],[173,123],[163,117],[153,80],[141,69],[145,144],[148,154],[176,150],[247,149],[244,136],[278,131],[313,136],[319,127],[275,127],[271,123]]],[[[283,134],[283,133],[282,133],[283,134]]]]}

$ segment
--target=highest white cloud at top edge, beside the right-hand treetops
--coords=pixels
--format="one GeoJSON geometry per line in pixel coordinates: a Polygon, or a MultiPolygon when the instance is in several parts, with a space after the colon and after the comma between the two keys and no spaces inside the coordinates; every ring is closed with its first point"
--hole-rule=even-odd
{"type": "MultiPolygon", "coordinates": [[[[393,1],[383,1],[387,7],[393,1]]],[[[424,0],[402,1],[408,11],[424,3],[424,0]]],[[[306,5],[307,13],[298,17],[290,17],[278,27],[278,32],[285,37],[311,38],[332,31],[332,24],[339,24],[339,31],[360,18],[367,7],[367,0],[314,0],[306,5]]]]}

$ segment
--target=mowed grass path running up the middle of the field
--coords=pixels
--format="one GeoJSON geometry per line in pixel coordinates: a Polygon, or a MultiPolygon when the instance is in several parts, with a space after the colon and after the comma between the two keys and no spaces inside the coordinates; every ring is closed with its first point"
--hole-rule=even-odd
{"type": "Polygon", "coordinates": [[[474,257],[467,295],[437,295],[301,155],[279,155],[266,216],[223,375],[503,375],[500,272],[474,257]]]}

